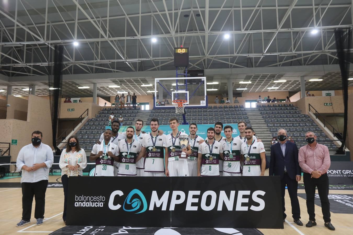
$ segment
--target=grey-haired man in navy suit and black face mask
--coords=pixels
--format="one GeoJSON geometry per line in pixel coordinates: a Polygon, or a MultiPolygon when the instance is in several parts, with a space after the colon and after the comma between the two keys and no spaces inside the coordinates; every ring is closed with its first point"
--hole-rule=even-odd
{"type": "Polygon", "coordinates": [[[285,188],[287,185],[289,197],[291,198],[294,223],[303,226],[303,223],[300,221],[300,208],[297,196],[298,181],[301,179],[297,144],[287,141],[287,131],[285,129],[279,129],[277,134],[279,142],[271,146],[269,175],[279,175],[281,177],[283,222],[285,222],[287,216],[285,213],[285,188]]]}

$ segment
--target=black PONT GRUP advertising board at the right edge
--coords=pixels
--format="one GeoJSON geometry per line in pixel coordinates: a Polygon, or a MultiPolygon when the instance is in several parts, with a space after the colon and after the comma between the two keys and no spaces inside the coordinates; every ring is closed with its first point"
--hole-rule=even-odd
{"type": "Polygon", "coordinates": [[[327,175],[330,184],[353,184],[353,162],[331,161],[327,175]]]}

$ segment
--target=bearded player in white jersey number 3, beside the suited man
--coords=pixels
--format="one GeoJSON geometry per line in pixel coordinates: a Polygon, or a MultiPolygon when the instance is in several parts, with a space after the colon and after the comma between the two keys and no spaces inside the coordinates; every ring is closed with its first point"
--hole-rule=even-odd
{"type": "Polygon", "coordinates": [[[241,144],[240,161],[244,162],[243,176],[263,176],[266,168],[265,147],[253,138],[254,130],[245,128],[246,142],[241,144]]]}

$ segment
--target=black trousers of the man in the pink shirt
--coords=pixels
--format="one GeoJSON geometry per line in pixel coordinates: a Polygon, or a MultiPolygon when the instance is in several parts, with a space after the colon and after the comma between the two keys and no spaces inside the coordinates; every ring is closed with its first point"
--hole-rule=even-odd
{"type": "Polygon", "coordinates": [[[327,174],[321,175],[318,179],[311,178],[309,173],[303,175],[304,187],[306,193],[306,208],[309,214],[309,220],[315,221],[315,187],[319,192],[321,201],[321,210],[325,223],[331,222],[330,202],[328,199],[329,194],[329,178],[327,174]]]}

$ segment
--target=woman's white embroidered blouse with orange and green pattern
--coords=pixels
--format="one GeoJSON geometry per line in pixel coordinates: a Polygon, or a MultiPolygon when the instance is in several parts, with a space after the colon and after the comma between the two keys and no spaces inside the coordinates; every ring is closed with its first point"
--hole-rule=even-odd
{"type": "Polygon", "coordinates": [[[61,169],[61,176],[78,176],[83,175],[82,170],[87,166],[87,157],[84,149],[80,149],[72,153],[71,151],[66,152],[66,148],[62,150],[60,160],[59,160],[59,167],[61,169]],[[67,167],[68,165],[76,166],[79,165],[77,171],[70,171],[67,167]]]}

